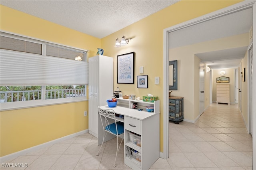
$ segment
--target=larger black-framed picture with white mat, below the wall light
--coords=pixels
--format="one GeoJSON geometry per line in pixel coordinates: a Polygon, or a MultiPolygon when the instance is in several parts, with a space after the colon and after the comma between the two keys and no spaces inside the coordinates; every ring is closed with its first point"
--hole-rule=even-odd
{"type": "Polygon", "coordinates": [[[117,56],[117,83],[134,84],[134,52],[117,56]]]}

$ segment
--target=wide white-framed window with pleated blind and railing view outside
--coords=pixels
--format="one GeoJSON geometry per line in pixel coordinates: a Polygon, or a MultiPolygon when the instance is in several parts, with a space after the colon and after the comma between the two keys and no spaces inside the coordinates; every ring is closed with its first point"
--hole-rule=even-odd
{"type": "Polygon", "coordinates": [[[86,97],[87,51],[1,32],[0,103],[86,97]]]}

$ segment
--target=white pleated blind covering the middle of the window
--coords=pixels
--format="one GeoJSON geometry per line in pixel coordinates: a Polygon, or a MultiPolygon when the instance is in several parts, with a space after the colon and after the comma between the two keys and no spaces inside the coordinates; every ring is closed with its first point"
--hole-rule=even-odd
{"type": "Polygon", "coordinates": [[[0,85],[86,85],[88,62],[0,49],[0,85]]]}

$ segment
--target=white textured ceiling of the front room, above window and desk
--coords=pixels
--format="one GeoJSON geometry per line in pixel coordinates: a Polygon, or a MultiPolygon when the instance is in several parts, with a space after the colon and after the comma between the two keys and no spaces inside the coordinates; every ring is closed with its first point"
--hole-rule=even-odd
{"type": "Polygon", "coordinates": [[[0,4],[104,38],[179,0],[0,0],[0,4]]]}

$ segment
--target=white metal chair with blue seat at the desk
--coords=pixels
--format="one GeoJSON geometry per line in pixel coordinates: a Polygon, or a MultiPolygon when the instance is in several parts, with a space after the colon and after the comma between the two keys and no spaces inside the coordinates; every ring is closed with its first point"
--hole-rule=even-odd
{"type": "MultiPolygon", "coordinates": [[[[122,138],[120,145],[118,147],[118,138],[120,137],[120,135],[122,135],[124,133],[124,123],[116,120],[116,114],[113,109],[100,109],[98,107],[98,112],[100,115],[102,127],[104,129],[103,130],[103,141],[100,146],[100,149],[102,148],[102,145],[104,143],[104,138],[106,137],[106,135],[108,133],[111,133],[111,134],[115,135],[117,138],[117,145],[116,145],[116,157],[117,157],[117,153],[118,153],[120,146],[122,144],[122,141],[123,141],[123,138],[122,138]],[[109,123],[110,119],[114,120],[114,123],[109,123]],[[105,132],[107,132],[107,133],[105,134],[105,132]]],[[[100,152],[100,150],[98,151],[98,154],[96,154],[97,156],[99,155],[99,152],[100,152]]],[[[115,158],[113,167],[116,167],[116,158],[115,158]]]]}

